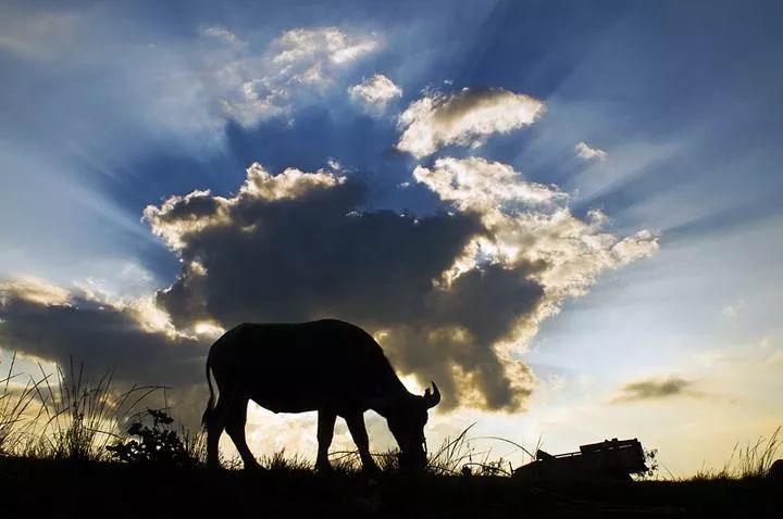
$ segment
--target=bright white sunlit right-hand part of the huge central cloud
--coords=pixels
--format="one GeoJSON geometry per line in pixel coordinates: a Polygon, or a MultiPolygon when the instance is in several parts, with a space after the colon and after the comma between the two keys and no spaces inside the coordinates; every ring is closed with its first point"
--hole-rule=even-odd
{"type": "Polygon", "coordinates": [[[649,230],[622,239],[602,231],[606,217],[599,211],[589,212],[587,219],[575,217],[566,193],[524,180],[505,164],[444,157],[431,168],[418,166],[413,176],[442,200],[480,215],[487,230],[469,243],[446,273],[447,281],[482,261],[539,266],[531,278],[544,287],[546,298],[543,314],[532,322],[556,312],[564,298],[584,294],[602,271],[658,249],[649,230]]]}

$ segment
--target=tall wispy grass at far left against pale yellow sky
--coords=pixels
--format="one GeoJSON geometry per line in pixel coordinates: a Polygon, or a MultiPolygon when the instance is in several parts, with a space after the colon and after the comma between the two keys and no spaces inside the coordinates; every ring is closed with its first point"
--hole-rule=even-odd
{"type": "Polygon", "coordinates": [[[175,428],[167,404],[163,409],[138,410],[158,391],[163,391],[165,402],[166,388],[133,385],[122,390],[113,383],[111,371],[90,379],[84,365],[77,367],[73,359],[66,371],[58,366],[50,374],[39,363],[37,380],[27,375],[27,382],[21,384],[16,380],[23,374],[14,372],[15,366],[14,354],[7,375],[0,379],[0,454],[107,461],[113,457],[108,447],[133,441],[135,422],[136,430],[141,431],[138,422],[146,415],[162,413],[171,427],[157,431],[156,441],[165,438],[176,443],[178,456],[189,465],[199,465],[206,458],[204,434],[183,426],[175,428]]]}

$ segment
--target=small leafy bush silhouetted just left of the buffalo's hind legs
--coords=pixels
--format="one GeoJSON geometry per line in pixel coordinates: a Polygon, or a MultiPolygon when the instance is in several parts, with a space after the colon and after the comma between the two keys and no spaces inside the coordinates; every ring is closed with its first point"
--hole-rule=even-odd
{"type": "Polygon", "coordinates": [[[108,445],[107,451],[117,461],[199,465],[203,442],[198,435],[190,435],[184,431],[181,431],[181,436],[172,427],[174,419],[167,409],[148,408],[127,429],[127,434],[137,439],[117,441],[113,445],[108,445]]]}

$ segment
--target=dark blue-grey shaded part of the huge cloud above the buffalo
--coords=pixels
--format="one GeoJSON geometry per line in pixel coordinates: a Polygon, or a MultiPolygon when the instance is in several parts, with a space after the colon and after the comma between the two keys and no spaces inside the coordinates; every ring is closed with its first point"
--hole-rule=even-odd
{"type": "MultiPolygon", "coordinates": [[[[178,236],[183,270],[158,302],[178,327],[346,319],[380,333],[401,372],[435,379],[448,394],[445,405],[477,391],[480,405],[518,407],[530,380],[511,380],[494,346],[543,296],[527,277],[532,268],[488,265],[437,286],[469,241],[485,232],[480,216],[362,213],[364,201],[356,182],[296,198],[240,194],[222,205],[225,221],[178,236]]],[[[153,228],[183,223],[185,230],[194,218],[213,218],[204,206],[178,199],[156,215],[153,228]],[[191,205],[198,210],[189,212],[191,205]]]]}

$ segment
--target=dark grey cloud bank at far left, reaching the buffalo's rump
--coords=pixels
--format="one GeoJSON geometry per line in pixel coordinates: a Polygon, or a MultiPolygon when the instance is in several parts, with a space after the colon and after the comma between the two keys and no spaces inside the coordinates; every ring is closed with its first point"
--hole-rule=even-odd
{"type": "Polygon", "coordinates": [[[39,293],[35,286],[17,289],[0,283],[0,347],[57,363],[65,383],[76,374],[83,383],[90,383],[111,372],[111,390],[116,394],[132,385],[161,388],[141,405],[169,405],[181,423],[199,427],[207,398],[203,366],[209,341],[171,328],[150,328],[144,321],[149,307],[84,295],[52,302],[47,301],[46,290],[39,293]]]}

